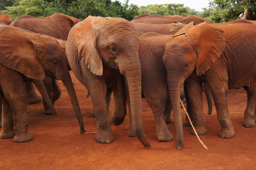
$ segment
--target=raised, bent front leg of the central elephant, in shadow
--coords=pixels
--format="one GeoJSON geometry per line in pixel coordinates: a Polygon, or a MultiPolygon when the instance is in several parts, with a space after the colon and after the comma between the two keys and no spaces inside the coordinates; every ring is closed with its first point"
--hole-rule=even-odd
{"type": "Polygon", "coordinates": [[[115,108],[111,112],[111,122],[115,126],[119,126],[124,122],[126,116],[126,96],[124,79],[121,75],[117,76],[117,79],[112,84],[115,108]]]}

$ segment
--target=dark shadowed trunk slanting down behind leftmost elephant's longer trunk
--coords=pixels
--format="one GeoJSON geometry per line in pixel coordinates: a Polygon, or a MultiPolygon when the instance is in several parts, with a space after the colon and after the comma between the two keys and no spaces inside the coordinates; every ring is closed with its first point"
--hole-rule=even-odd
{"type": "Polygon", "coordinates": [[[32,79],[32,81],[34,82],[36,88],[38,89],[38,91],[40,92],[40,94],[42,95],[42,98],[45,100],[46,104],[53,110],[54,113],[57,113],[57,111],[54,109],[52,102],[46,92],[46,89],[44,87],[44,83],[42,80],[36,80],[36,79],[32,79]]]}

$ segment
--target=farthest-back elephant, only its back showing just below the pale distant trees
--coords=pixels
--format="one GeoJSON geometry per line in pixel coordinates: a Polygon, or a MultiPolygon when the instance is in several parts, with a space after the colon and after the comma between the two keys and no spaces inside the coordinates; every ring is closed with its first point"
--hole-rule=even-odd
{"type": "Polygon", "coordinates": [[[141,20],[151,24],[172,24],[174,22],[189,24],[192,21],[194,21],[195,25],[198,25],[203,22],[207,22],[209,24],[213,23],[207,19],[200,18],[194,15],[186,15],[185,17],[163,17],[161,15],[149,15],[145,18],[142,18],[141,20]]]}

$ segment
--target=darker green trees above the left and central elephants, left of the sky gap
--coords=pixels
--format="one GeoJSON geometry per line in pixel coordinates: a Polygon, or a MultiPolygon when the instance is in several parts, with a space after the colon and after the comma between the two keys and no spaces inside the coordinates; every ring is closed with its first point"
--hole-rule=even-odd
{"type": "MultiPolygon", "coordinates": [[[[15,1],[15,0],[13,0],[15,1]]],[[[16,19],[22,15],[46,17],[53,13],[62,13],[80,20],[88,16],[121,17],[133,20],[138,15],[138,6],[111,0],[21,0],[18,6],[6,7],[3,13],[16,19]]]]}

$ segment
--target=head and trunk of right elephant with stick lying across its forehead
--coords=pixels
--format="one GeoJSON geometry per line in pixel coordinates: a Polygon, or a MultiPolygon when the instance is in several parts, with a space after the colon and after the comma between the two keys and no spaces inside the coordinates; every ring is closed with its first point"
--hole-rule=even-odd
{"type": "Polygon", "coordinates": [[[163,63],[177,131],[177,149],[183,148],[183,128],[180,111],[180,88],[196,69],[197,76],[207,71],[225,48],[222,30],[206,22],[193,23],[178,31],[165,45],[163,63]]]}

